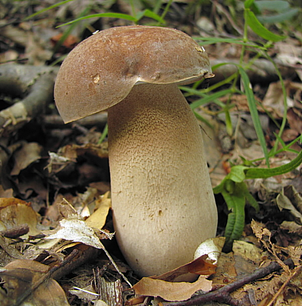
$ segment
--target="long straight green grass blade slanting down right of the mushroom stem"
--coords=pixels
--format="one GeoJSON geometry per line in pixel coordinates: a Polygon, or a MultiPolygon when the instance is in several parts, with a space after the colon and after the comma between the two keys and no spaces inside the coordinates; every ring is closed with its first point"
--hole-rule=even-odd
{"type": "Polygon", "coordinates": [[[238,69],[239,69],[239,73],[241,75],[241,79],[242,79],[242,83],[243,83],[243,86],[244,86],[245,94],[247,96],[249,109],[250,109],[250,113],[251,113],[251,117],[252,117],[252,120],[253,120],[253,123],[254,123],[255,130],[256,130],[256,134],[257,134],[258,140],[260,142],[260,146],[261,146],[263,154],[264,154],[266,166],[269,168],[267,146],[266,146],[263,130],[262,130],[262,127],[261,127],[261,123],[260,123],[260,119],[259,119],[259,115],[258,115],[258,111],[257,111],[257,107],[256,107],[254,93],[253,93],[253,90],[250,87],[250,80],[249,80],[249,77],[248,77],[246,71],[242,67],[238,66],[238,69]]]}

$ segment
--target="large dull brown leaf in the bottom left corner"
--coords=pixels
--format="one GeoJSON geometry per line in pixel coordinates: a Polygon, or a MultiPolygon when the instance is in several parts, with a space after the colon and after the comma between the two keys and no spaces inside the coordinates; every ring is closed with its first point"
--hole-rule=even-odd
{"type": "Polygon", "coordinates": [[[32,260],[15,260],[0,270],[2,306],[69,305],[63,289],[46,276],[48,267],[32,260]]]}

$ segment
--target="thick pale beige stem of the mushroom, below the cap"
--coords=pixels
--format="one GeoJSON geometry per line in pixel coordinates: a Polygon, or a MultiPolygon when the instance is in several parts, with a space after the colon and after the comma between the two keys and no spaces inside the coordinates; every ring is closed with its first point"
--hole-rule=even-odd
{"type": "Polygon", "coordinates": [[[113,221],[140,276],[193,260],[216,233],[200,127],[175,84],[135,85],[108,109],[113,221]]]}

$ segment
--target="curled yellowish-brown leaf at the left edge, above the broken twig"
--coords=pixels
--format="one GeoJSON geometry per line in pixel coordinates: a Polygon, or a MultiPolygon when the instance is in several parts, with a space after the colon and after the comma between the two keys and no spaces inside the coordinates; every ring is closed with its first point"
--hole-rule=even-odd
{"type": "Polygon", "coordinates": [[[12,228],[17,225],[28,224],[29,235],[40,234],[37,230],[39,215],[32,209],[30,202],[16,198],[0,198],[0,231],[12,228]]]}

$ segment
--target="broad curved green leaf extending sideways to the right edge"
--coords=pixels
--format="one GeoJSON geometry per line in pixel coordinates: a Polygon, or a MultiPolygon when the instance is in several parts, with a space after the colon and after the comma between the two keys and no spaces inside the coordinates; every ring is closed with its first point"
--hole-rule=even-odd
{"type": "Polygon", "coordinates": [[[250,168],[246,171],[246,179],[269,178],[271,176],[284,174],[296,169],[302,163],[302,150],[297,157],[286,165],[272,169],[250,168]]]}

